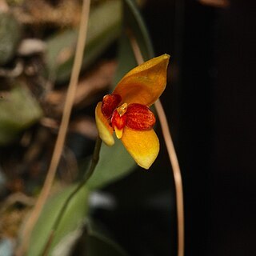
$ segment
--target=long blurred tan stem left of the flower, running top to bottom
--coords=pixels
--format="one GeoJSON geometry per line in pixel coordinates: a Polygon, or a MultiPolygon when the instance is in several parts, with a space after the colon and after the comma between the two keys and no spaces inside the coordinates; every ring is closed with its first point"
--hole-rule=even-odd
{"type": "Polygon", "coordinates": [[[78,76],[82,66],[82,56],[84,52],[84,47],[86,43],[87,25],[90,12],[90,0],[83,0],[82,3],[82,16],[78,34],[77,48],[74,56],[74,66],[72,68],[70,84],[68,87],[68,92],[66,94],[66,102],[62,114],[62,122],[58,132],[58,138],[54,146],[54,152],[51,158],[50,167],[46,175],[46,180],[42,191],[38,197],[38,201],[34,207],[34,210],[30,214],[29,220],[26,222],[26,226],[22,234],[22,243],[18,248],[16,255],[24,255],[26,253],[27,247],[29,246],[30,236],[34,228],[34,224],[38,221],[39,215],[42,212],[42,207],[44,206],[46,199],[50,194],[51,186],[54,182],[54,177],[60,161],[63,146],[66,139],[66,132],[70,122],[70,114],[74,102],[75,91],[78,84],[78,76]]]}

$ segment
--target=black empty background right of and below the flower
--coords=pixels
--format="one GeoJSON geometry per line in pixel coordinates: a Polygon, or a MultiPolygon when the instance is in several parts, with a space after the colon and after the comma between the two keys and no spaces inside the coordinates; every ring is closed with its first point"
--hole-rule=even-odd
{"type": "MultiPolygon", "coordinates": [[[[171,55],[162,102],[182,168],[189,256],[256,255],[255,10],[254,1],[223,8],[184,0],[152,0],[142,10],[156,55],[171,55]]],[[[176,254],[164,146],[149,173],[107,190],[119,208],[101,218],[125,234],[118,242],[131,255],[176,254]],[[124,186],[134,194],[122,194],[124,186]]]]}

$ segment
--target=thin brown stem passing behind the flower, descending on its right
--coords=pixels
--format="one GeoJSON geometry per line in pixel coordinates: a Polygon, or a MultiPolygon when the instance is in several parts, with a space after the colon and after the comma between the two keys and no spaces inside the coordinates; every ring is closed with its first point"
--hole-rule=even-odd
{"type": "MultiPolygon", "coordinates": [[[[144,62],[142,57],[142,52],[139,49],[138,42],[134,38],[133,34],[129,33],[130,44],[134,50],[134,56],[138,62],[141,64],[144,62]]],[[[182,174],[178,164],[177,154],[174,148],[174,142],[170,136],[170,129],[166,119],[165,111],[163,110],[162,103],[158,99],[154,103],[154,106],[158,113],[158,118],[160,120],[162,134],[166,142],[166,149],[169,154],[170,164],[172,166],[174,174],[174,183],[176,190],[176,204],[177,204],[177,222],[178,222],[178,256],[184,256],[184,240],[185,240],[185,224],[184,224],[184,202],[183,202],[183,189],[182,189],[182,174]]]]}

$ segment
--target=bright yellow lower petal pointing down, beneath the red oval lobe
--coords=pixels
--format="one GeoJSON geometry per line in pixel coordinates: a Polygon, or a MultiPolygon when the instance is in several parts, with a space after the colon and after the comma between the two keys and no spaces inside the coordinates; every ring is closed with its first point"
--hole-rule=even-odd
{"type": "Polygon", "coordinates": [[[154,130],[132,130],[125,127],[121,140],[135,162],[149,169],[159,152],[158,136],[154,130]]]}

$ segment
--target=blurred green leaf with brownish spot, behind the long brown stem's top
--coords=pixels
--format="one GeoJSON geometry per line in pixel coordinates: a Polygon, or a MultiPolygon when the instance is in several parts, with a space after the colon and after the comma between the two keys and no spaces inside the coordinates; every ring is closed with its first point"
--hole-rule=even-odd
{"type": "MultiPolygon", "coordinates": [[[[82,68],[89,66],[118,38],[121,19],[120,0],[102,2],[90,11],[82,68]]],[[[66,30],[46,42],[46,66],[50,77],[57,82],[64,82],[70,77],[77,38],[78,30],[66,30]]]]}

